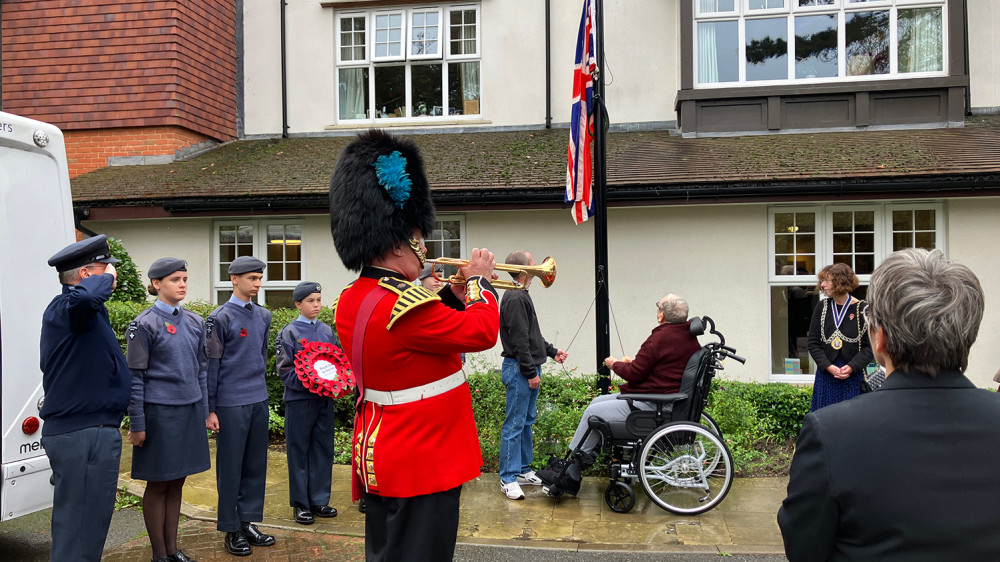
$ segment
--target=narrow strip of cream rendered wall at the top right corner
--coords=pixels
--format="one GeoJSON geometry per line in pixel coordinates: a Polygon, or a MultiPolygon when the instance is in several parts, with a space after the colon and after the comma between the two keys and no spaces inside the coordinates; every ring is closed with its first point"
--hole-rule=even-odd
{"type": "Polygon", "coordinates": [[[968,0],[972,107],[1000,108],[1000,0],[968,0]]]}

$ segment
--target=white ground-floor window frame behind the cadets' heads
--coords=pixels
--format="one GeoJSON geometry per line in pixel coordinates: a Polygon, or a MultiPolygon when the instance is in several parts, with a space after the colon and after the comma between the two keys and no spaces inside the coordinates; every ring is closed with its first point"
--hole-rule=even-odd
{"type": "MultiPolygon", "coordinates": [[[[270,218],[246,218],[246,219],[224,219],[212,221],[212,302],[216,305],[224,304],[224,302],[219,302],[219,293],[223,291],[232,292],[233,284],[229,280],[229,276],[222,278],[222,256],[221,256],[221,236],[220,227],[223,226],[250,226],[253,230],[253,251],[251,255],[260,259],[264,263],[268,263],[267,259],[267,227],[270,225],[297,225],[301,229],[302,239],[300,244],[300,256],[302,259],[299,261],[300,265],[300,277],[301,279],[296,280],[282,280],[282,281],[268,281],[267,268],[264,269],[264,278],[261,280],[260,292],[257,294],[257,298],[254,302],[263,304],[267,306],[267,291],[291,291],[295,289],[295,286],[301,283],[303,280],[308,279],[306,275],[306,260],[305,260],[305,246],[306,246],[306,221],[304,217],[290,216],[290,217],[270,217],[270,218]],[[262,257],[263,256],[263,257],[262,257]]],[[[284,262],[283,260],[283,263],[284,262]]]]}

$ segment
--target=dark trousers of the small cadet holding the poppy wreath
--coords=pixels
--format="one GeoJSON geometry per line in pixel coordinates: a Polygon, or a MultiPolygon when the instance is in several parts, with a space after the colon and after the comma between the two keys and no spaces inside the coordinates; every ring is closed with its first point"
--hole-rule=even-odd
{"type": "Polygon", "coordinates": [[[288,501],[309,509],[330,503],[333,479],[333,399],[285,402],[288,501]]]}

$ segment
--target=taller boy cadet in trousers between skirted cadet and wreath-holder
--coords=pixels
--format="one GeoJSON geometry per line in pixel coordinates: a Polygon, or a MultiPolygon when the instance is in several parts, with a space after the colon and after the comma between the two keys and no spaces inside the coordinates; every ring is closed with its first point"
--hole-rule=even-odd
{"type": "Polygon", "coordinates": [[[229,264],[233,296],[205,322],[208,342],[208,426],[217,431],[215,473],[219,493],[216,529],[225,547],[247,556],[274,537],[254,521],[264,518],[267,475],[267,369],[271,312],[251,302],[266,264],[240,256],[229,264]],[[251,546],[252,545],[252,546],[251,546]]]}

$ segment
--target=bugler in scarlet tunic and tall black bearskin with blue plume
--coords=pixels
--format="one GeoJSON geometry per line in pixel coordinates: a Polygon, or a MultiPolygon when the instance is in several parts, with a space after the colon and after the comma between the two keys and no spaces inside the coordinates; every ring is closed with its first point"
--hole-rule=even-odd
{"type": "Polygon", "coordinates": [[[411,284],[434,206],[417,147],[378,130],[340,155],[330,221],[340,259],[361,272],[334,318],[361,393],[351,467],[354,499],[367,504],[366,558],[451,560],[462,484],[482,466],[459,354],[496,344],[493,254],[472,251],[465,287],[411,284]]]}

